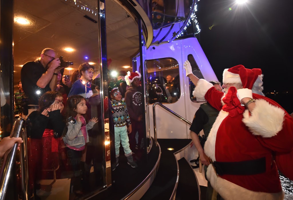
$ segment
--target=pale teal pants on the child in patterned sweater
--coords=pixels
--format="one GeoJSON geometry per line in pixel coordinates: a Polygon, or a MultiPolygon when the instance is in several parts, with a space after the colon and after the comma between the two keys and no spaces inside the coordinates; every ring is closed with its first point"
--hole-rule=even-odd
{"type": "Polygon", "coordinates": [[[115,153],[119,154],[120,140],[125,154],[130,154],[129,139],[127,135],[127,126],[114,127],[115,131],[115,153]]]}

